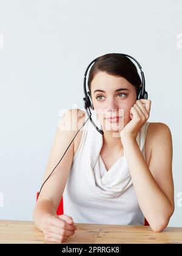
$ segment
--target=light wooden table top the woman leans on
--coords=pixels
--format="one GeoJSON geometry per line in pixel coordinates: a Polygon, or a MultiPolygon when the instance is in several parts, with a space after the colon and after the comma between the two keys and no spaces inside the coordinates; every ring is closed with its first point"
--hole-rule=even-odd
{"type": "MultiPolygon", "coordinates": [[[[75,223],[76,224],[76,223],[75,223]]],[[[163,232],[152,232],[145,226],[76,224],[78,229],[67,244],[123,244],[123,243],[180,243],[182,227],[167,227],[163,232]]],[[[0,221],[0,244],[47,243],[43,233],[32,221],[0,221]]]]}

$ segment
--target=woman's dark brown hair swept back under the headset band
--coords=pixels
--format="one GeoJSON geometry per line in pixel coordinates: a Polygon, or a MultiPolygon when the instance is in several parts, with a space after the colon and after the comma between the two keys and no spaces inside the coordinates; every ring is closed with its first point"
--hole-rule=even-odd
{"type": "Polygon", "coordinates": [[[113,76],[121,76],[127,79],[130,84],[136,88],[136,95],[138,95],[138,88],[141,85],[141,79],[134,63],[126,56],[116,53],[105,54],[100,56],[92,65],[89,73],[88,87],[91,95],[91,82],[93,77],[99,72],[104,71],[113,76]]]}

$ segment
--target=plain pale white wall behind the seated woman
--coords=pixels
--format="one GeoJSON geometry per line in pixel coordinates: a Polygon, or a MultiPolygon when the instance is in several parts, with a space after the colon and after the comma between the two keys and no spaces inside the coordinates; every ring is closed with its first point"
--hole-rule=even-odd
{"type": "Polygon", "coordinates": [[[123,52],[141,63],[150,122],[172,132],[175,213],[182,226],[180,0],[0,1],[0,218],[32,219],[59,110],[83,108],[89,63],[123,52]]]}

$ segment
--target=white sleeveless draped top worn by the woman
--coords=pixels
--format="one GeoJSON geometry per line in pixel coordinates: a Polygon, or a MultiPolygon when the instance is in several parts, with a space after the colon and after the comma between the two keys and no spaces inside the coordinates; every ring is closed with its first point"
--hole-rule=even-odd
{"type": "MultiPolygon", "coordinates": [[[[101,128],[96,112],[91,111],[93,121],[101,128]]],[[[99,155],[103,135],[85,116],[83,135],[63,193],[64,214],[76,223],[144,225],[125,154],[107,171],[99,155]]],[[[146,122],[136,137],[144,158],[148,126],[146,122]]]]}

